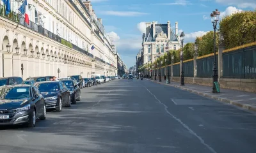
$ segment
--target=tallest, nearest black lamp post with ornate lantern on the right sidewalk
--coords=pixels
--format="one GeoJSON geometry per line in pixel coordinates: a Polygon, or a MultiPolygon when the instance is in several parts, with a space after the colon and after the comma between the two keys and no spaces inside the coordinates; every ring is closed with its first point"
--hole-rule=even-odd
{"type": "Polygon", "coordinates": [[[218,73],[217,73],[217,66],[216,66],[216,29],[218,20],[220,17],[220,11],[216,9],[215,11],[212,11],[211,13],[211,22],[214,29],[214,41],[213,41],[213,51],[214,51],[214,57],[213,57],[213,74],[212,74],[212,93],[218,93],[217,89],[214,85],[214,82],[218,82],[218,73]]]}

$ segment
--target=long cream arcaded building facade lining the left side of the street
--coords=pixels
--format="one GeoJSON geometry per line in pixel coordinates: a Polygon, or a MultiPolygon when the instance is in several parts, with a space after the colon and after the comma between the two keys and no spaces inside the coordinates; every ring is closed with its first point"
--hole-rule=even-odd
{"type": "Polygon", "coordinates": [[[89,1],[29,0],[29,24],[22,3],[10,1],[6,15],[1,1],[0,77],[116,75],[115,45],[89,1]]]}

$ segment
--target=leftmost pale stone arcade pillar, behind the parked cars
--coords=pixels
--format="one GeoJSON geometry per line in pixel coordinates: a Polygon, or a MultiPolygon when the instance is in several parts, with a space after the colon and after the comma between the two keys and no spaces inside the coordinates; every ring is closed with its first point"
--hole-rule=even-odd
{"type": "Polygon", "coordinates": [[[13,77],[12,71],[12,53],[4,52],[3,53],[3,77],[13,77]]]}

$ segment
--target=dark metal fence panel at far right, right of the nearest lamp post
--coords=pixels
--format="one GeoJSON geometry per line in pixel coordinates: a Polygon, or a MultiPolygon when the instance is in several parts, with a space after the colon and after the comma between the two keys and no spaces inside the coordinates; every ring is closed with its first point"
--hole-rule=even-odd
{"type": "Polygon", "coordinates": [[[256,78],[256,46],[223,53],[223,78],[256,78]]]}

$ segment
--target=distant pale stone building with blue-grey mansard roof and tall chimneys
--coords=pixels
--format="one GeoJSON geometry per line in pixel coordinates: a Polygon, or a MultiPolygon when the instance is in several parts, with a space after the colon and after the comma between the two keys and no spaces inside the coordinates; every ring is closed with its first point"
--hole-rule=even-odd
{"type": "Polygon", "coordinates": [[[175,22],[175,31],[170,21],[167,24],[146,23],[146,33],[143,34],[143,64],[149,63],[163,56],[169,50],[179,50],[178,22],[175,22]]]}

